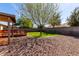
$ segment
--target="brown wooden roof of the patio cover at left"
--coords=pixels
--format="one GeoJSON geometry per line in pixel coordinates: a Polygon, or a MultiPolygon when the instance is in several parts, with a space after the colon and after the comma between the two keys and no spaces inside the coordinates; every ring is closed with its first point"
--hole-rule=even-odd
{"type": "Polygon", "coordinates": [[[0,12],[0,21],[7,21],[7,22],[10,21],[15,23],[16,22],[15,15],[0,12]],[[10,19],[8,20],[8,18],[10,19]]]}

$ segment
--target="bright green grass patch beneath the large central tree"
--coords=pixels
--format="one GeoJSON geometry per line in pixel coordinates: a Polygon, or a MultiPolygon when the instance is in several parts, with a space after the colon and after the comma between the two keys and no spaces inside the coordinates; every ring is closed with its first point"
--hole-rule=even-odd
{"type": "Polygon", "coordinates": [[[29,37],[49,37],[49,36],[57,36],[58,34],[48,34],[48,33],[44,33],[41,32],[42,34],[40,35],[40,32],[28,32],[27,36],[29,37]]]}

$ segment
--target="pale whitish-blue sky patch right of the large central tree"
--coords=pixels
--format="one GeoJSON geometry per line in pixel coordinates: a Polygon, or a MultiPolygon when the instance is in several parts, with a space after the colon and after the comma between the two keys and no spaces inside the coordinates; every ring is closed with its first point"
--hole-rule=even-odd
{"type": "Polygon", "coordinates": [[[62,23],[66,22],[66,18],[71,15],[71,12],[76,7],[79,7],[79,3],[62,3],[62,4],[60,4],[59,10],[61,12],[62,23]]]}

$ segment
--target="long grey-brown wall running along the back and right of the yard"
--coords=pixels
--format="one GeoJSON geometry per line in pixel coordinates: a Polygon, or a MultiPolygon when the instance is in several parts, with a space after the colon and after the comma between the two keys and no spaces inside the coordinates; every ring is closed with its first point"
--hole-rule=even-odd
{"type": "Polygon", "coordinates": [[[48,33],[57,33],[68,36],[77,36],[79,37],[79,27],[60,27],[60,28],[44,28],[44,29],[23,29],[26,32],[48,32],[48,33]]]}

